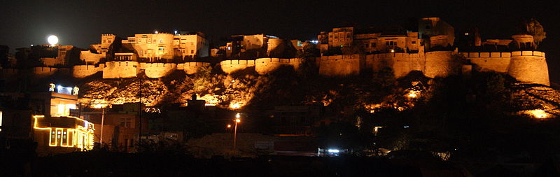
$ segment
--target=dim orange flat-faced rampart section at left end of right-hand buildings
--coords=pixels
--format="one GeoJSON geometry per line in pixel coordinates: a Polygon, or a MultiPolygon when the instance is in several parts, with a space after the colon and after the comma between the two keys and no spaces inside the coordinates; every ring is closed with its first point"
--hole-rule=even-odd
{"type": "Polygon", "coordinates": [[[360,55],[323,56],[319,62],[322,76],[356,76],[360,74],[360,55]]]}

